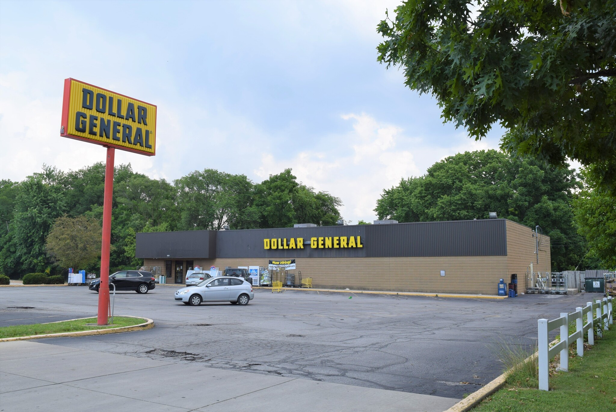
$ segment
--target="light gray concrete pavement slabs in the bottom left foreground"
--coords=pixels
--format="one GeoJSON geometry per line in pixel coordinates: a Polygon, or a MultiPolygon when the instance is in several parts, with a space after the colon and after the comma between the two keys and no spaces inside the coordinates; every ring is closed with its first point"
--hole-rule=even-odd
{"type": "Polygon", "coordinates": [[[0,343],[4,411],[429,411],[457,399],[80,350],[0,343]]]}

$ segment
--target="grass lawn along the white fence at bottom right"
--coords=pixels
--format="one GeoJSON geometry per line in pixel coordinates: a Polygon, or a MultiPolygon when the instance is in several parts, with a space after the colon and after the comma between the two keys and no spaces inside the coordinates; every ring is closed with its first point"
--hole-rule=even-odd
{"type": "Polygon", "coordinates": [[[616,411],[616,324],[603,336],[590,350],[584,350],[583,358],[573,356],[575,351],[570,349],[569,372],[551,369],[549,392],[537,389],[536,377],[514,373],[503,389],[485,398],[472,412],[616,411]]]}

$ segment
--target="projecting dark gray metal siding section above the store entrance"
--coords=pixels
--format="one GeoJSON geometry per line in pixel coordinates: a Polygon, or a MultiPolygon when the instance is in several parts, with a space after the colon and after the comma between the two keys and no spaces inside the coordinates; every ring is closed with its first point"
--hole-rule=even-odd
{"type": "Polygon", "coordinates": [[[214,258],[216,231],[137,233],[138,258],[214,258]]]}

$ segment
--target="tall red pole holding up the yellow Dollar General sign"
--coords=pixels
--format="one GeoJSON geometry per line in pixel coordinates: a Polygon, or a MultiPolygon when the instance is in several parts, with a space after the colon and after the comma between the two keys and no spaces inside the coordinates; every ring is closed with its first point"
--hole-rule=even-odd
{"type": "Polygon", "coordinates": [[[100,247],[100,286],[98,324],[109,323],[109,249],[111,245],[111,204],[113,204],[113,160],[115,147],[107,147],[105,198],[103,199],[103,242],[100,247]]]}

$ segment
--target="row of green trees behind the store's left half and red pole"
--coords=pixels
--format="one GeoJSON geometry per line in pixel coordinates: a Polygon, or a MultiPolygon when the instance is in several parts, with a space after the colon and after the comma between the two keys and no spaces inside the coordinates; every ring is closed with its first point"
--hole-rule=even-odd
{"type": "MultiPolygon", "coordinates": [[[[138,232],[328,226],[341,218],[338,197],[298,182],[290,169],[261,183],[213,169],[170,183],[129,164],[116,167],[113,180],[112,271],[143,264],[138,232]]],[[[1,180],[0,273],[98,271],[104,187],[103,163],[68,172],[43,165],[23,181],[1,180]]]]}

